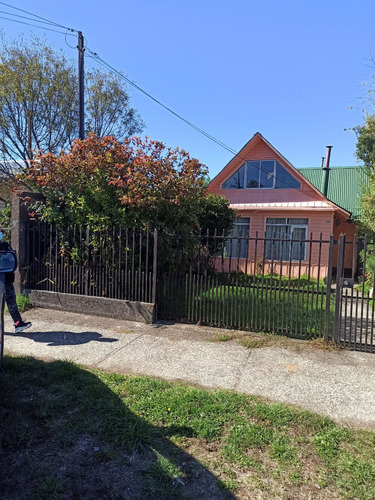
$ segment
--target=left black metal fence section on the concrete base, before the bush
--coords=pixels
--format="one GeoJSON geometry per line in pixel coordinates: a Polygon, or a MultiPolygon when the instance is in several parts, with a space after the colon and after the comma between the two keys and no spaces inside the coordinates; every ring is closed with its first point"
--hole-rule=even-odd
{"type": "Polygon", "coordinates": [[[91,231],[30,223],[26,279],[31,289],[155,302],[155,232],[91,231]]]}

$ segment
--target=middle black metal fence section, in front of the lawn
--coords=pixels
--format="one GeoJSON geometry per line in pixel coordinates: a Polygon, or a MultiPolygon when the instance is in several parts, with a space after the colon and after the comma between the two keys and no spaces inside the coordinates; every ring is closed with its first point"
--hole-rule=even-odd
{"type": "Polygon", "coordinates": [[[168,264],[158,272],[158,315],[223,328],[322,337],[326,322],[330,328],[333,324],[333,302],[325,284],[332,244],[322,237],[291,241],[218,233],[160,235],[158,258],[163,248],[168,264]],[[292,249],[289,260],[277,260],[276,252],[283,255],[286,246],[292,249]],[[303,259],[294,258],[293,246],[303,259]],[[265,259],[266,251],[270,259],[265,259]]]}

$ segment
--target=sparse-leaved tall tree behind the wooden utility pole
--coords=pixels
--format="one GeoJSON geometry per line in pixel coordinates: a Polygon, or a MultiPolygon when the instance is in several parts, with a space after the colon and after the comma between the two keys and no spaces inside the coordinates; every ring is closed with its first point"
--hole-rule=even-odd
{"type": "MultiPolygon", "coordinates": [[[[78,77],[76,64],[44,39],[7,42],[2,34],[0,44],[0,172],[12,176],[6,160],[58,153],[78,137],[78,77]]],[[[87,133],[123,139],[142,130],[120,78],[93,70],[85,83],[87,133]]]]}

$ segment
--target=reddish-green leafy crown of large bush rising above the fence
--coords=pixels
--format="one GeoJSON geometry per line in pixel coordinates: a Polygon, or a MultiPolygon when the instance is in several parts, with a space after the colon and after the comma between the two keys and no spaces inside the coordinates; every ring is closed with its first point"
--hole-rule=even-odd
{"type": "Polygon", "coordinates": [[[60,225],[228,230],[234,212],[227,200],[207,193],[206,176],[206,167],[183,149],[91,135],[68,152],[38,155],[26,181],[45,197],[34,206],[35,217],[60,225]]]}

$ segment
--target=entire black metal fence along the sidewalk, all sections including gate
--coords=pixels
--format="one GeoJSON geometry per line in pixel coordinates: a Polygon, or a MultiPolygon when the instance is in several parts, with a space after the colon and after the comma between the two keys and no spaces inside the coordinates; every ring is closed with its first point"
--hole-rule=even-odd
{"type": "Polygon", "coordinates": [[[367,240],[30,223],[26,241],[31,289],[151,302],[159,319],[374,349],[375,251],[367,240]]]}

